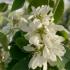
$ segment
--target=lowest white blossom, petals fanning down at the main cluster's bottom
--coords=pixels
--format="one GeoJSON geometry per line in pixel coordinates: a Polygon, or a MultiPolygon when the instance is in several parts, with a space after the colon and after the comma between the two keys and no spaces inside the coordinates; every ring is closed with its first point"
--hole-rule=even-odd
{"type": "Polygon", "coordinates": [[[41,56],[41,54],[37,54],[37,55],[34,54],[32,59],[29,62],[29,68],[32,67],[33,69],[35,69],[37,67],[42,67],[42,65],[45,65],[45,63],[47,64],[46,59],[43,56],[41,56]]]}

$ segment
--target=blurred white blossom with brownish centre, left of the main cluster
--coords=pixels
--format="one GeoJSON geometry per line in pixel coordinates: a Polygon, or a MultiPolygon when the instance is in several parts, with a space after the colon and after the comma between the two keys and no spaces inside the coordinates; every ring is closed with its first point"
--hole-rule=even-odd
{"type": "Polygon", "coordinates": [[[0,32],[7,35],[8,40],[12,41],[12,37],[14,34],[23,28],[23,21],[22,21],[22,15],[24,13],[23,8],[16,10],[12,13],[5,12],[2,13],[2,16],[4,17],[3,22],[1,22],[2,25],[0,25],[0,32]],[[6,16],[8,15],[8,16],[6,16]]]}

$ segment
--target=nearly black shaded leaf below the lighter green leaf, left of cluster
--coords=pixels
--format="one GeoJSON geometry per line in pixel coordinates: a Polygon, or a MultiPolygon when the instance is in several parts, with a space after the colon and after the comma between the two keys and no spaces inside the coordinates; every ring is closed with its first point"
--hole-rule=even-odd
{"type": "Polygon", "coordinates": [[[22,51],[15,43],[11,43],[10,46],[11,46],[10,55],[12,59],[20,60],[23,57],[26,57],[27,55],[29,55],[29,53],[22,51]]]}

